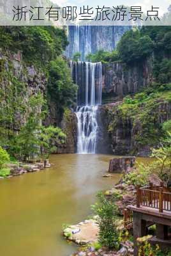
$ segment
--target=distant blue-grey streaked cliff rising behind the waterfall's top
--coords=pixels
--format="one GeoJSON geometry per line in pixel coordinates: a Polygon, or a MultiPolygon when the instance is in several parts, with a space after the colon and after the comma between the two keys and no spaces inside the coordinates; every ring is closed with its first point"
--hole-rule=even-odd
{"type": "Polygon", "coordinates": [[[80,52],[80,60],[85,61],[89,53],[100,49],[113,51],[121,36],[130,29],[130,26],[69,26],[66,56],[73,58],[75,52],[80,52]],[[105,38],[105,40],[104,40],[105,38]]]}

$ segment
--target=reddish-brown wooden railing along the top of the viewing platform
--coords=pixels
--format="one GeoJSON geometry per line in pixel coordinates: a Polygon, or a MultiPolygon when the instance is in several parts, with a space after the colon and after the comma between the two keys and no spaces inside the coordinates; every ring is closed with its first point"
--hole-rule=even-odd
{"type": "Polygon", "coordinates": [[[151,182],[149,186],[137,186],[137,207],[140,205],[159,209],[159,212],[171,211],[170,189],[165,188],[163,182],[160,186],[153,186],[151,182]]]}

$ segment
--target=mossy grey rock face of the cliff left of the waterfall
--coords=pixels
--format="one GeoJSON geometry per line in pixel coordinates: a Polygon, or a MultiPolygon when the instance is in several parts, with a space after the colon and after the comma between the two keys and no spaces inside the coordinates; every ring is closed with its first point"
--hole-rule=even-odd
{"type": "Polygon", "coordinates": [[[34,113],[41,114],[47,102],[50,109],[43,124],[59,126],[67,135],[63,150],[59,146],[59,152],[60,150],[62,153],[75,152],[77,120],[74,114],[70,113],[70,118],[66,121],[65,116],[61,116],[56,106],[53,106],[53,102],[48,102],[45,74],[33,65],[28,66],[24,63],[20,52],[11,54],[0,51],[0,139],[4,140],[3,134],[6,129],[20,131],[31,111],[30,102],[38,95],[44,99],[44,102],[42,101],[40,106],[34,106],[34,113]]]}

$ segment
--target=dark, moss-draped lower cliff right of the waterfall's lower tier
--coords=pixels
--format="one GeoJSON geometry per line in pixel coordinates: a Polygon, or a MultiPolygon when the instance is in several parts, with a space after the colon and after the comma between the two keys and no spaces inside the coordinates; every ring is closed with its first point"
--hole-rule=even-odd
{"type": "MultiPolygon", "coordinates": [[[[152,120],[149,118],[147,124],[142,123],[138,114],[126,117],[121,115],[122,104],[123,102],[115,102],[100,106],[99,115],[103,116],[105,113],[101,122],[101,145],[107,143],[108,149],[115,155],[149,156],[151,147],[160,143],[161,125],[171,118],[170,100],[156,102],[156,106],[149,111],[152,120]]],[[[142,107],[141,111],[143,114],[145,107],[142,107]]]]}

